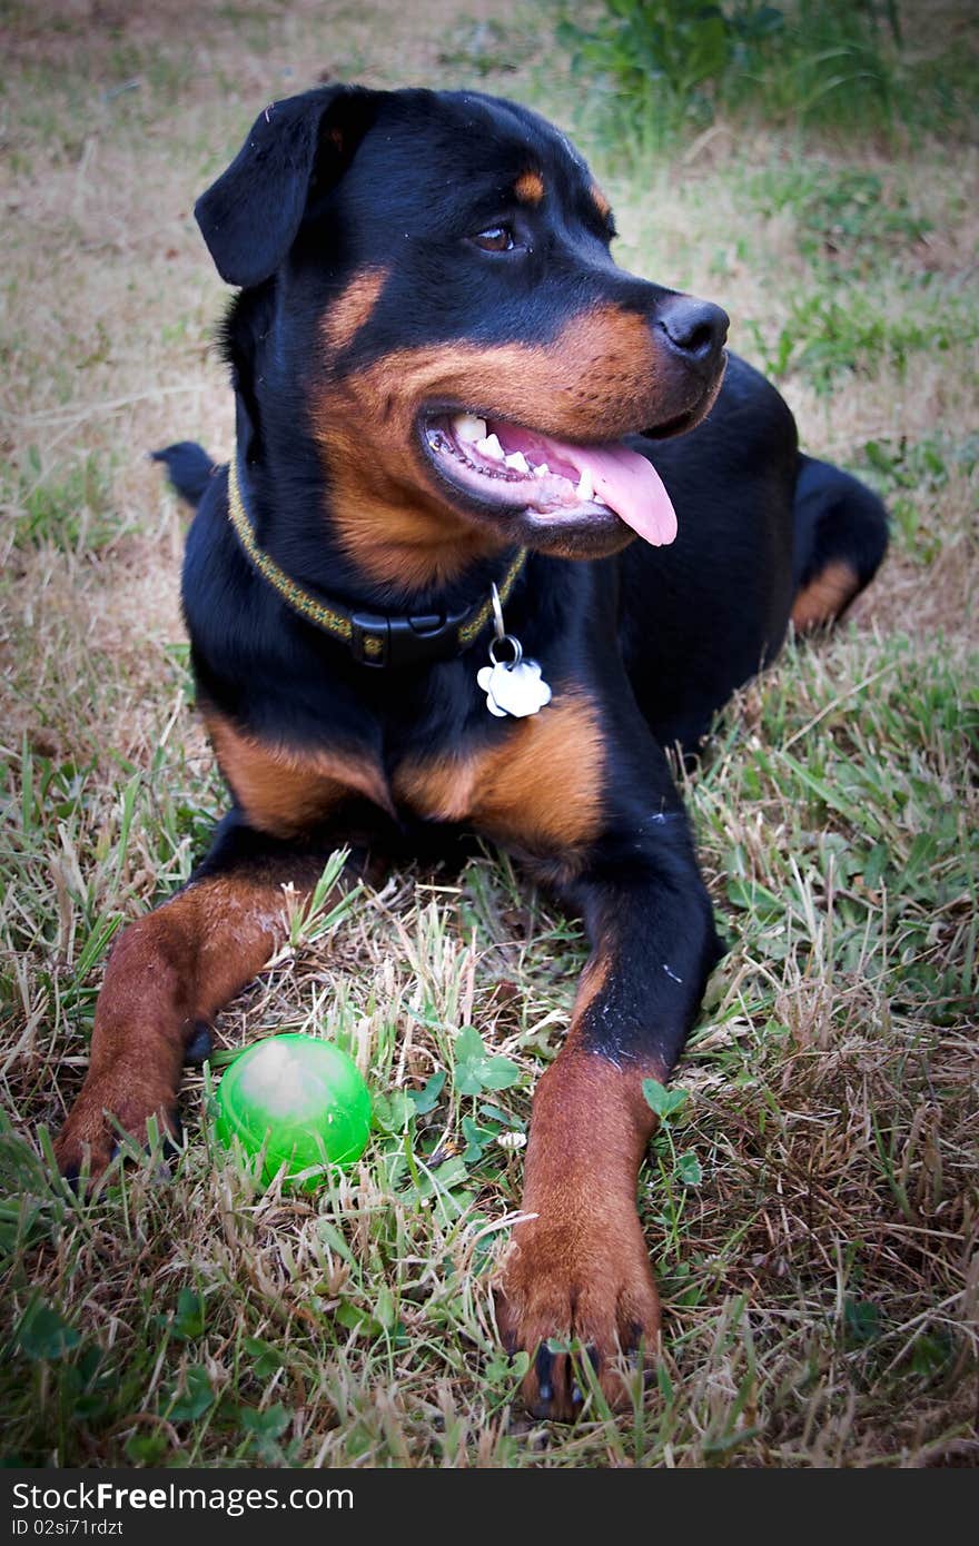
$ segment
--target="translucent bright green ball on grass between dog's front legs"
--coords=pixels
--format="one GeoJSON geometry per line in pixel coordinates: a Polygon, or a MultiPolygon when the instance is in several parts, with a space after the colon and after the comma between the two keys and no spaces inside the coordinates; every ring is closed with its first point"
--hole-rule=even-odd
{"type": "MultiPolygon", "coordinates": [[[[229,1064],[217,1091],[215,1133],[247,1155],[264,1144],[261,1177],[286,1164],[288,1180],[311,1166],[353,1164],[367,1149],[371,1098],[356,1064],[319,1036],[269,1036],[229,1064]]],[[[323,1180],[303,1178],[303,1190],[323,1180]]]]}

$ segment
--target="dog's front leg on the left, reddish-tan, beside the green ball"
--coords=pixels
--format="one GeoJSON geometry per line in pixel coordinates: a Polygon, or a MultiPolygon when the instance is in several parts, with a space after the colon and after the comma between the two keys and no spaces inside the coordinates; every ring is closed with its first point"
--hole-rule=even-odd
{"type": "Polygon", "coordinates": [[[99,1175],[118,1127],[138,1141],[152,1118],[164,1133],[178,1130],[182,1064],[206,1054],[210,1020],[286,938],[289,904],[311,894],[328,856],[232,813],[187,886],[124,931],[96,1006],[88,1074],[54,1146],[68,1177],[85,1158],[99,1175]]]}

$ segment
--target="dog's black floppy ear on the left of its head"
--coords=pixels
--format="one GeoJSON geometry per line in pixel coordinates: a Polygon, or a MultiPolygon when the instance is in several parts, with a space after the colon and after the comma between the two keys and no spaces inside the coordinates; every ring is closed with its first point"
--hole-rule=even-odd
{"type": "Polygon", "coordinates": [[[193,206],[223,280],[247,288],[275,272],[311,196],[342,176],[380,94],[322,87],[258,114],[227,172],[193,206]]]}

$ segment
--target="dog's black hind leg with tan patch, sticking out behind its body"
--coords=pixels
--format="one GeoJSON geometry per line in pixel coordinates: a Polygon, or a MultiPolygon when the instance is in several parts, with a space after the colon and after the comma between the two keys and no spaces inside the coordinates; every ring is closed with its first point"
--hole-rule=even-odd
{"type": "Polygon", "coordinates": [[[888,546],[888,515],[861,482],[812,456],[800,456],[792,513],[792,621],[806,632],[843,617],[874,578],[888,546]]]}

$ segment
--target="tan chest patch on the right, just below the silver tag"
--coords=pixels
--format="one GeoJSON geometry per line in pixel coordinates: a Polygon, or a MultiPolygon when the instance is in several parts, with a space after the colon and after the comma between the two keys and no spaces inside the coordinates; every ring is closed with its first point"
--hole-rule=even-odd
{"type": "Polygon", "coordinates": [[[565,693],[527,719],[501,727],[479,753],[397,768],[394,798],[418,815],[560,858],[585,847],[602,822],[605,750],[594,703],[565,693]],[[557,852],[555,852],[557,850],[557,852]]]}

